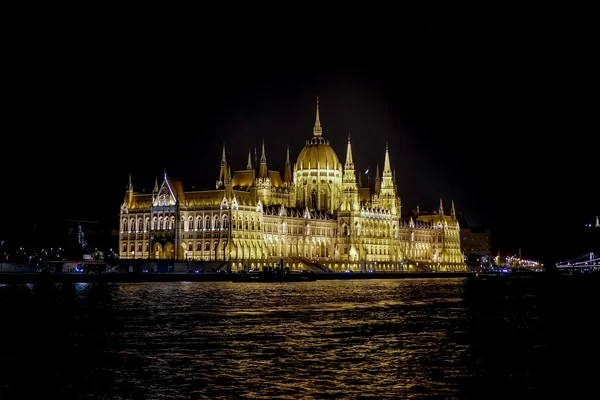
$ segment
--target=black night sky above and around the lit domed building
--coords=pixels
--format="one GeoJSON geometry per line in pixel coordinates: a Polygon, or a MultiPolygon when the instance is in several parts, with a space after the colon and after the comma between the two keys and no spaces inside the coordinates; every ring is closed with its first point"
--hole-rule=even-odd
{"type": "Polygon", "coordinates": [[[454,199],[509,250],[580,255],[556,248],[573,240],[563,229],[600,214],[588,195],[598,189],[598,81],[585,28],[381,25],[298,39],[293,27],[275,39],[167,29],[38,38],[39,56],[21,49],[28,62],[13,60],[8,108],[8,133],[29,161],[3,152],[14,159],[9,187],[24,196],[2,201],[29,210],[27,224],[75,215],[116,224],[129,172],[136,190],[165,168],[212,187],[223,141],[235,169],[263,137],[269,166],[282,169],[286,145],[295,159],[312,136],[319,96],[323,135],[342,162],[349,132],[362,171],[382,166],[389,142],[405,207],[443,197],[449,209],[454,199]]]}

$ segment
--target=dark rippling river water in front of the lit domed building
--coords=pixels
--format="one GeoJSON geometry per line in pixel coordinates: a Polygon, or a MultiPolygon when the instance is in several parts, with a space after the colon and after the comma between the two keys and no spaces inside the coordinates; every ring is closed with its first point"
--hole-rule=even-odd
{"type": "Polygon", "coordinates": [[[0,285],[0,391],[61,399],[552,392],[566,375],[548,367],[562,368],[570,353],[549,357],[550,331],[569,321],[585,328],[571,312],[548,312],[568,299],[540,285],[472,289],[470,279],[0,285]]]}

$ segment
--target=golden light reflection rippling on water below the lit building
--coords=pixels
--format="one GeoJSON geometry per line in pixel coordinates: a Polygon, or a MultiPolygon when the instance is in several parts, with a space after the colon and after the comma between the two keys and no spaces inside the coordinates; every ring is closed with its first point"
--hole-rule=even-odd
{"type": "Polygon", "coordinates": [[[150,318],[122,316],[136,330],[121,340],[152,343],[153,351],[136,354],[148,368],[163,375],[168,361],[177,366],[169,368],[176,377],[194,375],[206,396],[381,398],[408,395],[416,384],[423,393],[456,390],[452,379],[466,367],[445,368],[443,384],[428,371],[432,358],[451,364],[466,351],[449,331],[451,321],[464,318],[460,308],[447,313],[449,304],[462,301],[457,283],[129,284],[119,286],[115,300],[132,311],[140,297],[151,299],[145,305],[150,318]],[[443,350],[444,341],[450,350],[443,350]]]}

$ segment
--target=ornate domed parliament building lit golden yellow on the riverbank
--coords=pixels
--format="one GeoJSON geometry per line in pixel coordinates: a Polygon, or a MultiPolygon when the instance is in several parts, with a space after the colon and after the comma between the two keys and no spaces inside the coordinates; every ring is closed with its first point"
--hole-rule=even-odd
{"type": "Polygon", "coordinates": [[[323,137],[317,101],[313,136],[283,177],[269,169],[264,141],[232,174],[225,147],[213,190],[187,191],[155,180],[150,193],[129,185],[120,209],[121,259],[220,263],[232,272],[283,263],[292,270],[464,271],[454,202],[446,213],[401,216],[387,144],[375,185],[362,187],[348,137],[340,162],[323,137]]]}

